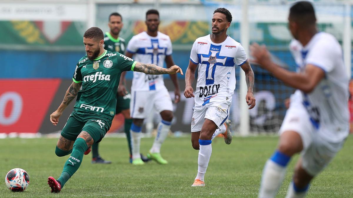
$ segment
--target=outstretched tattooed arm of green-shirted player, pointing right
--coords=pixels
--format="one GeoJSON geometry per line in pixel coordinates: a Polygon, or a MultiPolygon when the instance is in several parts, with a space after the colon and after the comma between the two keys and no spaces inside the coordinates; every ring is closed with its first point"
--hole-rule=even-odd
{"type": "Polygon", "coordinates": [[[155,64],[146,64],[137,62],[134,67],[134,72],[142,72],[145,74],[183,74],[183,71],[179,66],[173,65],[172,67],[166,69],[163,67],[156,66],[155,64]]]}

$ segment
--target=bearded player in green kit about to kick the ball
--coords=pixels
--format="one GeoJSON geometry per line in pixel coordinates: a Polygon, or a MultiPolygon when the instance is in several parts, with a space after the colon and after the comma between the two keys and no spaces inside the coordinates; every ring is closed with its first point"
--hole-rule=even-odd
{"type": "Polygon", "coordinates": [[[61,131],[55,154],[71,154],[64,164],[58,180],[48,178],[52,192],[58,193],[82,163],[83,155],[88,154],[95,142],[100,142],[109,130],[116,109],[116,92],[120,75],[124,71],[145,74],[181,73],[180,67],[169,69],[154,64],[134,61],[119,52],[103,48],[104,34],[98,27],[89,28],[83,35],[86,56],[82,57],[73,75],[73,82],[65,93],[58,109],[50,115],[50,122],[58,124],[62,112],[77,96],[76,104],[61,131]]]}

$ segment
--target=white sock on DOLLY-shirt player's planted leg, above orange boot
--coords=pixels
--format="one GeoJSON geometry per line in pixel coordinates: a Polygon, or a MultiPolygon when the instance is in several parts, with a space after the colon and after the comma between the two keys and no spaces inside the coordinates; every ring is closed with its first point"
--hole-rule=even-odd
{"type": "Polygon", "coordinates": [[[212,153],[212,146],[211,144],[208,145],[200,145],[199,155],[198,155],[198,169],[197,169],[197,176],[195,179],[199,179],[204,181],[205,173],[207,170],[208,162],[210,161],[212,153]]]}

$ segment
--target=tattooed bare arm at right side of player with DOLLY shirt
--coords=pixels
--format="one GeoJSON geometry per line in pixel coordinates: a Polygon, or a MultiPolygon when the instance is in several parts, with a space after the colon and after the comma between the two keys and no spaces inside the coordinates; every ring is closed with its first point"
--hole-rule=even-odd
{"type": "Polygon", "coordinates": [[[253,89],[254,89],[254,72],[251,69],[250,63],[247,60],[244,64],[242,64],[241,69],[245,72],[245,79],[246,79],[246,85],[247,85],[247,94],[246,94],[246,103],[249,105],[249,109],[254,108],[255,106],[255,97],[253,94],[253,89]]]}

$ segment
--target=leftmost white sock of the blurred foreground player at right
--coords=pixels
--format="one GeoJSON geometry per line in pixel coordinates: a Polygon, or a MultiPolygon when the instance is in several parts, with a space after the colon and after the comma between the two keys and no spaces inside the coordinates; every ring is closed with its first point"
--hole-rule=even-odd
{"type": "Polygon", "coordinates": [[[259,198],[275,197],[285,175],[286,167],[277,164],[271,159],[267,160],[262,172],[259,198]]]}

